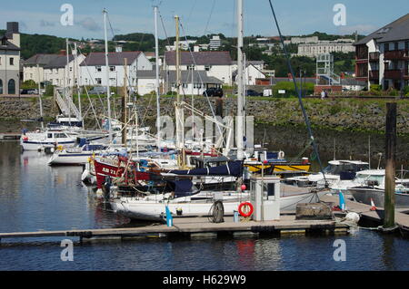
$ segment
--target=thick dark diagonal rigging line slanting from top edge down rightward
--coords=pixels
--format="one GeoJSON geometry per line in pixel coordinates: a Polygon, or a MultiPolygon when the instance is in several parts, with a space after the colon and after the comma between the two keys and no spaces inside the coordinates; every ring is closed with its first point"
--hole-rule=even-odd
{"type": "Polygon", "coordinates": [[[268,0],[268,2],[269,2],[269,4],[270,4],[270,8],[271,8],[271,11],[272,11],[273,16],[274,16],[274,22],[275,22],[275,25],[277,26],[278,34],[280,35],[280,40],[281,40],[281,43],[282,43],[282,45],[283,45],[285,58],[286,58],[286,60],[287,60],[287,65],[288,65],[288,68],[289,68],[289,70],[290,70],[290,72],[291,72],[291,75],[292,75],[292,77],[293,77],[295,92],[297,92],[297,94],[298,94],[298,101],[299,101],[299,103],[300,103],[301,110],[303,111],[305,124],[306,124],[306,126],[307,126],[307,128],[308,128],[308,133],[309,133],[310,138],[311,138],[311,140],[312,140],[312,142],[313,142],[314,152],[315,152],[315,155],[316,155],[316,157],[317,157],[318,163],[319,163],[319,165],[320,165],[321,172],[323,173],[323,177],[324,177],[324,181],[325,181],[325,187],[326,187],[326,186],[328,186],[328,182],[327,182],[327,180],[326,180],[326,178],[325,178],[325,173],[324,173],[323,164],[322,164],[322,162],[321,162],[321,159],[320,159],[320,156],[319,156],[319,153],[318,153],[318,149],[317,149],[317,147],[316,147],[316,143],[315,143],[314,135],[313,135],[313,130],[311,129],[310,120],[308,119],[308,115],[307,115],[307,113],[306,113],[306,111],[305,111],[305,109],[304,109],[303,97],[302,97],[301,91],[300,91],[299,88],[298,88],[297,82],[296,82],[296,80],[295,80],[293,66],[291,65],[290,56],[289,56],[289,54],[288,54],[288,52],[287,52],[287,49],[286,49],[286,47],[285,47],[285,44],[284,44],[283,34],[281,34],[280,25],[278,24],[277,17],[275,16],[273,4],[272,4],[271,0],[268,0]]]}

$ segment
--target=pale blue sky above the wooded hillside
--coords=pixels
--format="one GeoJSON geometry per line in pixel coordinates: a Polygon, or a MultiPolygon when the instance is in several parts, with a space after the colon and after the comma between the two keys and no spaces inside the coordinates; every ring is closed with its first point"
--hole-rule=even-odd
{"type": "MultiPolygon", "coordinates": [[[[370,34],[409,13],[407,0],[272,0],[284,35],[312,34],[370,34]],[[335,25],[334,5],[346,9],[345,25],[335,25]]],[[[175,35],[175,14],[181,18],[184,35],[223,33],[236,36],[236,0],[0,0],[0,29],[16,21],[26,34],[50,34],[60,37],[104,38],[106,8],[113,34],[154,33],[153,5],[159,6],[164,25],[159,19],[159,37],[175,35]],[[73,25],[62,25],[65,11],[74,8],[73,25]],[[165,26],[165,29],[164,29],[165,26]]],[[[244,0],[244,34],[277,35],[268,0],[244,0]]]]}

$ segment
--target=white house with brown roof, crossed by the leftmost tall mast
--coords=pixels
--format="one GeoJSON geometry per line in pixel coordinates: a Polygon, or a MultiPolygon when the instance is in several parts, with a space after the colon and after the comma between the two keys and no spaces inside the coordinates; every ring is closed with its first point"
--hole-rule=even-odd
{"type": "MultiPolygon", "coordinates": [[[[127,62],[128,85],[137,85],[138,71],[152,71],[154,65],[142,52],[108,53],[109,85],[124,86],[125,59],[127,62]]],[[[81,85],[106,86],[105,53],[89,53],[80,64],[81,85]]]]}

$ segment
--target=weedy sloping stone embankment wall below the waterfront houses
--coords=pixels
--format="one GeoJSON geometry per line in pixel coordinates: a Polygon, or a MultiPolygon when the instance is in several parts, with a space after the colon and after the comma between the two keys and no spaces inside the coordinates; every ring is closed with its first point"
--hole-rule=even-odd
{"type": "MultiPolygon", "coordinates": [[[[101,101],[93,99],[96,115],[104,115],[101,101]]],[[[161,114],[174,117],[173,97],[161,99],[161,114]]],[[[190,103],[190,96],[186,97],[190,103]]],[[[105,100],[103,101],[105,102],[105,100]]],[[[115,98],[113,110],[121,111],[121,100],[115,98]]],[[[210,99],[213,108],[215,98],[210,99]]],[[[356,100],[356,99],[306,99],[305,110],[314,128],[340,131],[367,131],[384,132],[386,103],[383,100],[356,100]]],[[[398,102],[397,131],[401,135],[409,135],[409,101],[398,102]]],[[[146,121],[156,118],[155,97],[141,97],[137,102],[140,116],[146,121]]],[[[304,118],[297,99],[246,99],[246,114],[254,115],[256,123],[274,126],[304,126],[304,118]]],[[[104,104],[106,107],[106,103],[104,104]]],[[[195,97],[195,108],[211,114],[208,101],[204,97],[195,97]]],[[[82,109],[86,112],[87,122],[95,121],[94,113],[88,100],[82,101],[82,109]]],[[[58,114],[53,98],[44,98],[43,111],[46,120],[53,120],[58,114]]],[[[224,115],[235,114],[235,98],[224,99],[224,115]]],[[[189,112],[185,112],[186,115],[189,112]]],[[[19,120],[37,119],[39,117],[39,102],[35,98],[0,99],[0,122],[15,123],[19,127],[19,120]]],[[[24,126],[25,123],[23,123],[24,126]]],[[[7,126],[9,127],[9,126],[7,126]]],[[[0,130],[7,129],[3,125],[0,130]]],[[[20,126],[21,127],[21,126],[20,126]]],[[[9,128],[9,130],[11,130],[9,128]]]]}

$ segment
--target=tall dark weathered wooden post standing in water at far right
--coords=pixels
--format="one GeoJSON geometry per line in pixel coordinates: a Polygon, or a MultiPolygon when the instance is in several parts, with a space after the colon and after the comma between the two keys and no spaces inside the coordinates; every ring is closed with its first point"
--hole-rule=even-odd
{"type": "Polygon", "coordinates": [[[384,230],[392,230],[394,224],[394,175],[396,169],[396,102],[386,103],[385,128],[385,186],[384,186],[384,230]]]}

